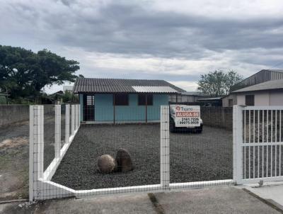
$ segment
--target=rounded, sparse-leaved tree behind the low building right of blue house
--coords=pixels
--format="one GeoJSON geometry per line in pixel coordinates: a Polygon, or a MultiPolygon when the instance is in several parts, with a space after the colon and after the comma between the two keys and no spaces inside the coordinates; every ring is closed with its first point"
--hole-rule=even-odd
{"type": "Polygon", "coordinates": [[[243,77],[233,70],[228,73],[222,71],[209,72],[200,76],[198,90],[210,96],[224,96],[231,92],[233,85],[241,81],[243,77]]]}

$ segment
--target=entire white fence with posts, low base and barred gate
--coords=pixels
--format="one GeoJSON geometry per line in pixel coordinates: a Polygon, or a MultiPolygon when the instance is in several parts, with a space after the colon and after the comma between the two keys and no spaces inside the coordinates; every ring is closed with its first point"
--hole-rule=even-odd
{"type": "Polygon", "coordinates": [[[282,175],[282,106],[233,107],[233,179],[175,183],[170,181],[169,106],[161,106],[160,183],[74,190],[50,181],[80,127],[80,106],[66,106],[65,142],[59,146],[61,106],[55,107],[55,157],[44,171],[43,106],[30,106],[30,200],[76,196],[85,198],[101,194],[169,191],[219,184],[283,181],[282,175]],[[71,130],[69,113],[71,111],[71,130]],[[71,135],[70,135],[71,133],[71,135]]]}

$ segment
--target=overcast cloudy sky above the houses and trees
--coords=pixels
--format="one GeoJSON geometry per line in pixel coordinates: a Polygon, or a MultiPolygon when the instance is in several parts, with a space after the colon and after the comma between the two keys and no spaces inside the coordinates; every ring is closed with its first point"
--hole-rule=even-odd
{"type": "Polygon", "coordinates": [[[79,61],[85,77],[195,91],[215,69],[282,68],[282,11],[282,0],[1,0],[0,44],[47,48],[79,61]]]}

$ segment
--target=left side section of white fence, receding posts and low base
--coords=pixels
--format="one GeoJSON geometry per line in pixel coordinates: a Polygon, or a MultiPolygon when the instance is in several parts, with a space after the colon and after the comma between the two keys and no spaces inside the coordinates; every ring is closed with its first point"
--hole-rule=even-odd
{"type": "Polygon", "coordinates": [[[71,105],[71,135],[69,135],[70,105],[66,105],[65,142],[61,148],[61,106],[55,105],[54,153],[55,157],[44,171],[44,109],[43,106],[30,106],[30,161],[29,194],[35,199],[62,198],[71,195],[68,188],[50,181],[64,154],[79,130],[79,105],[71,105]]]}

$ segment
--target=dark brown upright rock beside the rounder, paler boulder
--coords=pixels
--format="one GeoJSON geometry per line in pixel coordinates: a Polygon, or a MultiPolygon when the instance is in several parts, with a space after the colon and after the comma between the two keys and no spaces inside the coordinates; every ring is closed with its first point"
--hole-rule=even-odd
{"type": "Polygon", "coordinates": [[[116,154],[117,171],[131,171],[134,169],[132,158],[125,149],[119,149],[116,154]]]}

